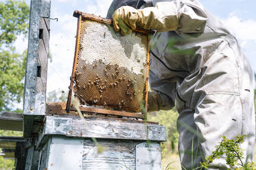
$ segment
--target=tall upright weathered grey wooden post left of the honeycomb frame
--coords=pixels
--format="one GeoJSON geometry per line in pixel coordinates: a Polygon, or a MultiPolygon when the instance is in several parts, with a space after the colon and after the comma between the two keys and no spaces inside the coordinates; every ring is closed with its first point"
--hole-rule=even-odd
{"type": "Polygon", "coordinates": [[[50,0],[32,0],[30,3],[23,103],[25,137],[35,136],[38,133],[36,122],[42,121],[45,116],[50,7],[50,0]]]}

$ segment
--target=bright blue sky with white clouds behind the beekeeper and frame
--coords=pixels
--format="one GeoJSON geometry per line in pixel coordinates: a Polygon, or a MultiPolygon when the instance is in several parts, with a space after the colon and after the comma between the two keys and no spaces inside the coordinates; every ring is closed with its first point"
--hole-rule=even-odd
{"type": "MultiPolygon", "coordinates": [[[[26,0],[29,4],[30,1],[26,0]]],[[[112,0],[52,0],[49,50],[52,62],[48,64],[47,92],[68,90],[73,66],[77,19],[74,10],[106,16],[112,0]]],[[[255,0],[201,0],[213,15],[223,21],[237,40],[256,72],[256,12],[255,0]]],[[[27,48],[26,38],[19,37],[16,50],[27,48]]]]}

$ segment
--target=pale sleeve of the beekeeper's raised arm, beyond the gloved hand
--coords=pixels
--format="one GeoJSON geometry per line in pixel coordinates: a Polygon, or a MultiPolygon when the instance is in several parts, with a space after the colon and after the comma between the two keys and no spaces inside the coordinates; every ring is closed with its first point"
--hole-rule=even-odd
{"type": "Polygon", "coordinates": [[[202,6],[186,0],[158,2],[155,7],[139,12],[142,14],[139,27],[158,32],[202,33],[207,23],[207,14],[202,6]]]}

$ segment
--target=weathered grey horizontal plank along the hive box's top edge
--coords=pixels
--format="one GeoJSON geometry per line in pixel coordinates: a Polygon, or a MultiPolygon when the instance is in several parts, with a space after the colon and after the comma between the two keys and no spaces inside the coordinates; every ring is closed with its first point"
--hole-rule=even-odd
{"type": "MultiPolygon", "coordinates": [[[[43,135],[60,134],[86,138],[113,138],[126,140],[166,141],[165,127],[154,125],[163,132],[152,131],[148,123],[125,122],[115,119],[78,119],[75,117],[51,117],[45,119],[43,135]],[[150,134],[150,136],[148,135],[150,134]],[[159,137],[156,137],[156,136],[159,137]],[[151,136],[154,136],[152,138],[151,136]]],[[[41,136],[43,138],[43,136],[41,136]]],[[[40,142],[40,141],[39,141],[40,142]]]]}

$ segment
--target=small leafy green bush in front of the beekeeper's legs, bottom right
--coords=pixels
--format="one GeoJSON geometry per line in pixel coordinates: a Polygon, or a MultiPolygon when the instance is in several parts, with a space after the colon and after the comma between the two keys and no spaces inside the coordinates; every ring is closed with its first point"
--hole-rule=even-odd
{"type": "Polygon", "coordinates": [[[234,139],[227,139],[222,136],[222,141],[220,145],[216,146],[216,150],[212,152],[211,156],[206,158],[205,162],[201,162],[201,167],[207,169],[213,160],[218,158],[226,158],[226,165],[229,165],[231,169],[240,170],[247,169],[253,170],[253,162],[242,162],[243,150],[240,148],[241,143],[244,142],[243,136],[237,136],[234,139]]]}

